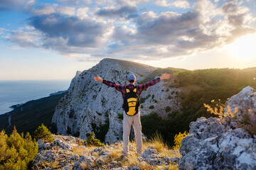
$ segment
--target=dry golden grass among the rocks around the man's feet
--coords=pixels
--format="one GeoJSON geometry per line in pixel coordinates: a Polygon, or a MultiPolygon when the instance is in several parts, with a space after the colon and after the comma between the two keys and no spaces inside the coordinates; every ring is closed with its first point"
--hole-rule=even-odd
{"type": "MultiPolygon", "coordinates": [[[[104,147],[104,150],[107,150],[110,152],[110,157],[108,157],[107,159],[104,159],[102,164],[97,164],[95,162],[95,164],[93,164],[92,166],[100,169],[110,169],[111,167],[110,162],[112,162],[112,164],[119,164],[119,166],[139,166],[139,169],[145,169],[145,170],[178,169],[177,164],[169,164],[168,166],[165,166],[164,164],[161,166],[151,166],[146,162],[139,162],[137,160],[137,157],[139,157],[139,155],[136,152],[136,142],[134,141],[130,142],[129,145],[132,145],[134,149],[129,149],[129,156],[126,157],[126,159],[123,159],[123,154],[122,154],[123,145],[121,144],[114,144],[111,146],[106,145],[104,147]]],[[[144,152],[144,150],[149,146],[153,147],[154,149],[156,149],[157,152],[159,152],[159,157],[181,157],[178,150],[170,149],[168,145],[164,143],[163,138],[159,134],[154,135],[154,137],[152,137],[152,139],[149,142],[144,142],[142,146],[143,146],[142,152],[144,152]]],[[[82,146],[74,147],[73,154],[92,155],[93,157],[95,157],[95,160],[96,160],[97,158],[100,157],[99,153],[93,152],[91,154],[92,150],[95,148],[96,147],[82,147],[82,146]]],[[[80,166],[82,167],[82,169],[90,169],[90,167],[88,167],[87,164],[83,162],[80,164],[80,166]]]]}

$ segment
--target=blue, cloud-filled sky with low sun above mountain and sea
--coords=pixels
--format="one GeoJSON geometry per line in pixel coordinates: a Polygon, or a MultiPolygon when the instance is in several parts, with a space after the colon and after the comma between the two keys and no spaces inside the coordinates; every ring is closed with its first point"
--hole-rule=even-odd
{"type": "Polygon", "coordinates": [[[104,58],[256,67],[255,0],[0,0],[0,80],[72,79],[104,58]]]}

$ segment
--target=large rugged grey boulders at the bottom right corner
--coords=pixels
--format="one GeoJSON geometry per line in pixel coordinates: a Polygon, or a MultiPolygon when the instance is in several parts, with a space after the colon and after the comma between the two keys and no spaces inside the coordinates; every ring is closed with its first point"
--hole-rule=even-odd
{"type": "Polygon", "coordinates": [[[256,93],[250,86],[230,98],[225,114],[237,118],[198,118],[181,142],[179,169],[256,169],[256,135],[241,124],[255,120],[256,93]],[[228,106],[230,109],[228,109],[228,106]]]}

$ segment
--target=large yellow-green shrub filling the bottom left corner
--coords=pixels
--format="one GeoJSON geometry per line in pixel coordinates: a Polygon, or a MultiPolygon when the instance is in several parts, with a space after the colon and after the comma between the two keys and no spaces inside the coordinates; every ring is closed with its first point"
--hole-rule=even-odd
{"type": "Polygon", "coordinates": [[[18,134],[15,126],[10,137],[5,131],[0,132],[0,169],[28,169],[38,153],[36,140],[27,132],[26,137],[18,134]]]}

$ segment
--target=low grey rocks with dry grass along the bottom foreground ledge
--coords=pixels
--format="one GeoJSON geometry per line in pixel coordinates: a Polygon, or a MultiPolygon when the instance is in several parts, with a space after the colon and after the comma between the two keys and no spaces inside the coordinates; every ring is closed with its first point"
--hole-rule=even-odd
{"type": "MultiPolygon", "coordinates": [[[[53,135],[54,142],[38,140],[38,154],[33,159],[32,169],[140,169],[139,166],[169,166],[178,162],[179,157],[159,157],[156,149],[149,146],[142,157],[137,157],[139,164],[129,165],[129,159],[122,156],[122,142],[105,147],[86,147],[78,137],[53,135]]],[[[135,150],[131,145],[132,151],[135,150]]],[[[133,163],[132,163],[133,164],[133,163]]],[[[164,169],[159,168],[159,169],[164,169]]]]}

